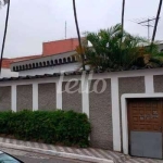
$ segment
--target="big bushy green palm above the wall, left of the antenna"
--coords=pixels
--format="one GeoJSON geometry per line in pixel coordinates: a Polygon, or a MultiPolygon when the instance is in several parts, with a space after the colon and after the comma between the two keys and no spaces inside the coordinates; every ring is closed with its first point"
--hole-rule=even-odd
{"type": "Polygon", "coordinates": [[[140,57],[140,42],[146,41],[123,32],[122,25],[117,24],[109,29],[98,33],[87,33],[86,39],[92,47],[85,47],[85,54],[89,65],[97,71],[124,71],[128,70],[140,57]],[[122,40],[122,43],[120,43],[122,40]],[[121,61],[120,61],[121,58],[121,61]]]}

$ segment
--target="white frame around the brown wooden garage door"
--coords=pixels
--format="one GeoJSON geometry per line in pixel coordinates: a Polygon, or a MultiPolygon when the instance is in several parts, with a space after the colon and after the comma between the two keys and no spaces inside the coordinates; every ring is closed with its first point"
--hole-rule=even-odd
{"type": "Polygon", "coordinates": [[[128,154],[128,117],[127,117],[127,99],[139,99],[139,98],[162,98],[163,93],[124,93],[121,97],[121,111],[122,111],[122,143],[123,153],[128,154]]]}

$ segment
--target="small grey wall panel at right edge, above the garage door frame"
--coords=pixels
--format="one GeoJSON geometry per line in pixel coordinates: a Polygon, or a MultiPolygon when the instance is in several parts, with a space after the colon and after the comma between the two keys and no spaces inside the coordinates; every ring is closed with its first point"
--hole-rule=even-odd
{"type": "Polygon", "coordinates": [[[163,75],[154,75],[154,92],[163,92],[163,75]]]}

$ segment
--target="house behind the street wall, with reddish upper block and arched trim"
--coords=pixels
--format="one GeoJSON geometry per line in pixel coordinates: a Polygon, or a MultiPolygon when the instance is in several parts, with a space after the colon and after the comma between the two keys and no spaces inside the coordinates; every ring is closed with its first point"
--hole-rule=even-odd
{"type": "Polygon", "coordinates": [[[80,63],[73,57],[77,46],[77,38],[43,42],[42,54],[3,59],[1,78],[79,70],[80,63]]]}

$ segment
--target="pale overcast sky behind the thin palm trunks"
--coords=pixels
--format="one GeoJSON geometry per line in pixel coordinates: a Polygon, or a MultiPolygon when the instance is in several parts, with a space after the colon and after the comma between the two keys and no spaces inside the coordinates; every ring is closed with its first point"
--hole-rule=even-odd
{"type": "MultiPolygon", "coordinates": [[[[147,37],[147,27],[135,22],[156,16],[159,1],[126,0],[125,29],[147,37]]],[[[76,0],[76,8],[82,35],[121,23],[122,0],[76,0]]],[[[0,9],[0,49],[5,13],[7,7],[0,9]]],[[[77,37],[72,0],[11,0],[3,58],[41,54],[42,42],[65,39],[65,21],[67,38],[77,37]]],[[[156,39],[163,40],[163,9],[156,39]]]]}

